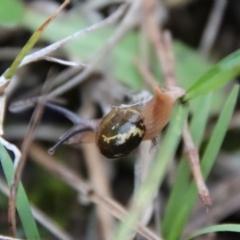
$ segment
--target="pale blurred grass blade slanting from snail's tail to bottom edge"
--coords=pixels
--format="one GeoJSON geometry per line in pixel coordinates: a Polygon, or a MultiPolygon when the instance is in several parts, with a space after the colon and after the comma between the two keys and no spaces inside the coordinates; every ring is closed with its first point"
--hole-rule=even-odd
{"type": "Polygon", "coordinates": [[[173,158],[180,141],[183,124],[187,117],[187,110],[185,106],[181,105],[178,105],[175,109],[167,134],[165,135],[161,149],[152,165],[149,175],[137,191],[129,213],[116,229],[112,239],[122,240],[129,237],[132,229],[135,228],[137,221],[140,219],[142,211],[158,190],[165,176],[169,160],[173,158]]]}

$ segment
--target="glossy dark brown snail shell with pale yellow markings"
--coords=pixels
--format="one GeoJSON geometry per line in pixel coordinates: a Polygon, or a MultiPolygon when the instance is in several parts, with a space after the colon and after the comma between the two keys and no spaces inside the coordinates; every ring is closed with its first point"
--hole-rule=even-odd
{"type": "Polygon", "coordinates": [[[102,120],[96,144],[107,158],[127,156],[141,143],[146,131],[144,116],[135,108],[113,108],[102,120]]]}

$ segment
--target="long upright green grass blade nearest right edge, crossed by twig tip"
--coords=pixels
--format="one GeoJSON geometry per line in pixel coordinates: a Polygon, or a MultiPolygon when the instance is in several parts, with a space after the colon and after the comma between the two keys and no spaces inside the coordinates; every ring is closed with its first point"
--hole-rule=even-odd
{"type": "MultiPolygon", "coordinates": [[[[227,128],[234,111],[234,106],[237,101],[238,90],[238,86],[234,87],[226,104],[224,105],[219,120],[212,133],[212,137],[202,157],[201,168],[205,179],[212,169],[212,166],[222,145],[224,136],[227,132],[227,128]]],[[[181,232],[197,199],[197,190],[194,182],[191,183],[189,190],[184,193],[183,197],[185,198],[182,202],[183,205],[178,209],[177,212],[175,212],[175,217],[171,222],[171,229],[174,229],[174,231],[168,232],[166,238],[167,240],[176,240],[181,235],[181,232]]]]}

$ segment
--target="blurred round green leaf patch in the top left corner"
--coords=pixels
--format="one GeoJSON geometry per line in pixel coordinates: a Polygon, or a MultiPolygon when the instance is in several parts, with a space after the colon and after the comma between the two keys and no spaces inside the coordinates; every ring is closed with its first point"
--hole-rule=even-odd
{"type": "Polygon", "coordinates": [[[13,25],[22,20],[24,6],[19,0],[0,1],[0,25],[13,25]]]}

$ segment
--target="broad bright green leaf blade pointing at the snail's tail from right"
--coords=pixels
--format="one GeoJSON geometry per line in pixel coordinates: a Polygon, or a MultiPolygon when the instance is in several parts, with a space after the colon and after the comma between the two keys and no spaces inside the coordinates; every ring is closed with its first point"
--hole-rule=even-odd
{"type": "Polygon", "coordinates": [[[240,50],[232,53],[214,65],[194,83],[184,96],[188,101],[218,89],[240,74],[240,50]]]}

